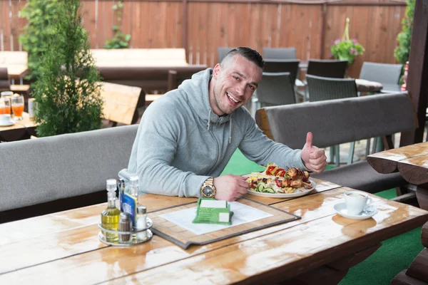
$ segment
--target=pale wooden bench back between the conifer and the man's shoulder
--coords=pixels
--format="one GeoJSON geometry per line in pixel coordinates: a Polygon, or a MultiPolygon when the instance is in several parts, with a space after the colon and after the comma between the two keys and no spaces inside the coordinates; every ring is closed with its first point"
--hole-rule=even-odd
{"type": "Polygon", "coordinates": [[[101,96],[104,100],[104,118],[126,125],[136,123],[138,100],[144,102],[144,95],[144,91],[139,87],[103,82],[101,96]]]}

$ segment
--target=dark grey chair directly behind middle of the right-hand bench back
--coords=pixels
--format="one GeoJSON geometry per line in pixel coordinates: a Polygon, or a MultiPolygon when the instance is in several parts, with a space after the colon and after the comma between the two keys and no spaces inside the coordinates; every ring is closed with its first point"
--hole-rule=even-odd
{"type": "MultiPolygon", "coordinates": [[[[310,92],[310,101],[333,100],[357,97],[357,86],[354,78],[326,78],[321,76],[306,76],[307,88],[310,92]]],[[[334,128],[334,126],[332,127],[334,128]]],[[[347,164],[352,164],[355,142],[351,142],[347,164]]],[[[330,147],[330,161],[336,158],[336,166],[340,165],[340,146],[330,147]]]]}

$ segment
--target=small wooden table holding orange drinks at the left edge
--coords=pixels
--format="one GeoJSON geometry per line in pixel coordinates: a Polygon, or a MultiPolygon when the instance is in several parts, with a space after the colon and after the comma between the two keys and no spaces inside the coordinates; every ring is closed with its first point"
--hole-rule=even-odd
{"type": "Polygon", "coordinates": [[[35,135],[36,123],[30,119],[29,113],[22,113],[22,118],[23,120],[15,120],[14,125],[0,127],[0,141],[25,140],[35,135]]]}

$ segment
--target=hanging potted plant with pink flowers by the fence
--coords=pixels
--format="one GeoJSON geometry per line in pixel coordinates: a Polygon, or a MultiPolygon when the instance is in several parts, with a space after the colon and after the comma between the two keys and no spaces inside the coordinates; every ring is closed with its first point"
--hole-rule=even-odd
{"type": "Polygon", "coordinates": [[[347,18],[342,38],[337,38],[330,48],[332,58],[348,61],[348,66],[354,63],[356,56],[361,56],[365,51],[356,38],[350,39],[349,28],[350,19],[347,18]]]}

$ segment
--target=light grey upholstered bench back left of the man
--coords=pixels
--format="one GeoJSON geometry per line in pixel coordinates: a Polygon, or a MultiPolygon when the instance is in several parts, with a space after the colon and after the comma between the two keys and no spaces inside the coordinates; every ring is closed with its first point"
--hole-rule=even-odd
{"type": "Polygon", "coordinates": [[[0,144],[0,222],[106,202],[138,125],[0,144]]]}

